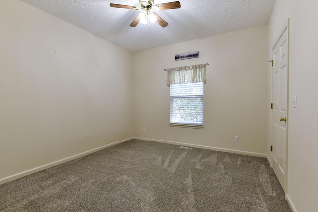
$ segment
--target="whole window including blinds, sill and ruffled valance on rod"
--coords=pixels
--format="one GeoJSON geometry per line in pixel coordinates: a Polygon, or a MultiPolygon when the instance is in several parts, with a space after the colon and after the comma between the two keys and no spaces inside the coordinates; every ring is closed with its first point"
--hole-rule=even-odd
{"type": "Polygon", "coordinates": [[[170,126],[203,128],[203,84],[205,66],[165,69],[170,86],[170,126]]]}

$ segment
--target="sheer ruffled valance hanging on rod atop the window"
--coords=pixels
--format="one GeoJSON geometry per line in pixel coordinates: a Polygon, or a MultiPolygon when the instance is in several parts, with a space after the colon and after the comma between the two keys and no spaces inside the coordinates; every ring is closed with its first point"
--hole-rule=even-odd
{"type": "Polygon", "coordinates": [[[198,64],[165,69],[167,71],[167,85],[205,82],[206,65],[207,64],[198,64]]]}

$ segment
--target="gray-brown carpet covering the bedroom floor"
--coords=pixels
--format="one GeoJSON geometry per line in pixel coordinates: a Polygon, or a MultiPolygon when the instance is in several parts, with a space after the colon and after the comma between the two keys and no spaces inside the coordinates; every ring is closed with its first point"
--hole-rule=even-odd
{"type": "Polygon", "coordinates": [[[0,185],[1,212],[291,212],[266,158],[132,140],[0,185]]]}

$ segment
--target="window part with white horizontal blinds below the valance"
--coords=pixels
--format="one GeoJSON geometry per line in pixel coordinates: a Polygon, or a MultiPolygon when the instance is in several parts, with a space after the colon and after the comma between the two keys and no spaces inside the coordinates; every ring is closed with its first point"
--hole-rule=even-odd
{"type": "Polygon", "coordinates": [[[170,85],[170,126],[203,128],[203,82],[170,85]]]}

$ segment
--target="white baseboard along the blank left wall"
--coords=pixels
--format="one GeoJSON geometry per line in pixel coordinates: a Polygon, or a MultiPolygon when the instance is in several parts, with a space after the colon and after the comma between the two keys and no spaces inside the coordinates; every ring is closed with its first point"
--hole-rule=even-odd
{"type": "Polygon", "coordinates": [[[94,148],[94,149],[91,149],[91,150],[88,150],[88,151],[85,151],[85,152],[82,152],[82,153],[79,153],[79,154],[76,154],[76,155],[61,159],[61,160],[54,161],[52,163],[48,163],[48,164],[45,164],[45,165],[30,169],[30,170],[26,170],[26,171],[23,171],[23,172],[20,172],[20,173],[17,173],[17,174],[2,178],[2,179],[0,179],[0,185],[4,184],[4,183],[7,183],[7,182],[10,182],[12,180],[16,180],[16,179],[21,178],[21,177],[25,177],[25,176],[30,175],[30,174],[34,174],[36,172],[42,171],[42,170],[47,169],[47,168],[51,168],[53,166],[57,166],[57,165],[60,165],[62,163],[69,162],[69,161],[77,159],[79,157],[86,156],[86,155],[94,153],[96,151],[100,151],[102,149],[109,148],[109,147],[117,145],[119,143],[130,141],[132,139],[133,139],[133,137],[128,138],[128,139],[124,139],[124,140],[121,140],[121,141],[116,141],[116,142],[113,142],[113,143],[110,143],[110,144],[107,144],[107,145],[104,145],[104,146],[101,146],[101,147],[98,147],[98,148],[94,148]]]}

